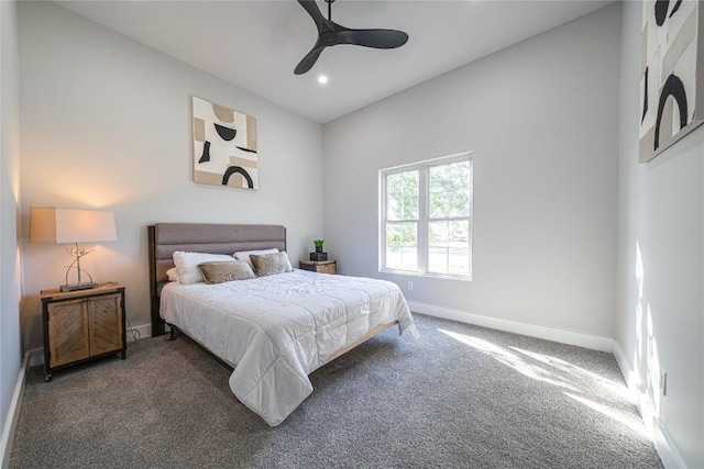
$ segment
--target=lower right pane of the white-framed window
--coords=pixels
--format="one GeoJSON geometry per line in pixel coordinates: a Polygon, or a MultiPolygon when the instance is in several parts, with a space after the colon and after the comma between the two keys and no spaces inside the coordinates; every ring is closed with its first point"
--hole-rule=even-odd
{"type": "Polygon", "coordinates": [[[469,220],[428,223],[428,271],[470,275],[469,220]]]}

